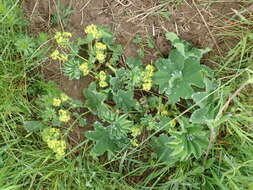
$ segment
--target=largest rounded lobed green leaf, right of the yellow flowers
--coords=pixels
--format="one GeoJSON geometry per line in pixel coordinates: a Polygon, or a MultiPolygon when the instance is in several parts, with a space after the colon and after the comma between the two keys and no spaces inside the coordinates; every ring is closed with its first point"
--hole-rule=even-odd
{"type": "Polygon", "coordinates": [[[154,74],[154,83],[158,84],[160,93],[165,93],[172,104],[177,103],[180,98],[191,98],[194,93],[192,85],[204,87],[202,68],[198,60],[188,58],[185,61],[173,62],[172,58],[176,59],[176,56],[180,58],[178,53],[173,54],[170,59],[158,60],[156,63],[158,71],[154,74]]]}

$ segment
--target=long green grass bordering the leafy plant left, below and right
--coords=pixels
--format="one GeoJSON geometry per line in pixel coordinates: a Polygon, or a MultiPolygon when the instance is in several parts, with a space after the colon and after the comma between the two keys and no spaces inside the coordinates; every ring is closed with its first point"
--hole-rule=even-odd
{"type": "MultiPolygon", "coordinates": [[[[33,99],[50,89],[38,69],[45,59],[44,51],[37,38],[27,35],[18,4],[0,1],[0,10],[1,190],[253,189],[251,85],[224,110],[205,165],[202,160],[191,160],[176,167],[164,166],[145,157],[145,145],[130,153],[123,150],[109,162],[94,160],[87,156],[87,140],[75,145],[66,159],[55,161],[40,136],[23,128],[23,121],[33,117],[36,109],[33,99]],[[31,52],[37,53],[31,56],[31,52]]],[[[222,35],[236,38],[237,44],[225,58],[209,58],[224,84],[223,104],[252,77],[253,23],[251,18],[234,22],[236,27],[222,35]]]]}

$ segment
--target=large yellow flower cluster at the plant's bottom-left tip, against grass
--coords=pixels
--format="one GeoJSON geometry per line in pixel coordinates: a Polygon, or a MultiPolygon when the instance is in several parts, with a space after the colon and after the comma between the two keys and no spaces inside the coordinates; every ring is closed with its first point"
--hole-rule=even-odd
{"type": "Polygon", "coordinates": [[[56,159],[64,157],[66,151],[66,142],[60,140],[60,130],[56,128],[46,128],[42,132],[42,139],[48,147],[55,153],[56,159]]]}

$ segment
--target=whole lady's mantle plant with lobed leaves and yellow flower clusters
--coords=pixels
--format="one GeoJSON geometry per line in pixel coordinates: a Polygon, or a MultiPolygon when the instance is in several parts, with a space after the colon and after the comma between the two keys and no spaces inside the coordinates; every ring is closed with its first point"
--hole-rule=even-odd
{"type": "Polygon", "coordinates": [[[39,101],[44,110],[40,122],[51,126],[43,129],[42,138],[57,159],[67,149],[60,137],[66,130],[62,126],[74,115],[80,116],[81,109],[97,117],[93,130],[85,133],[94,143],[92,156],[111,156],[145,143],[158,161],[168,165],[201,158],[219,108],[212,70],[200,64],[209,49],[195,48],[175,33],[167,33],[174,47],[168,57],[144,64],[140,55],[123,62],[123,48],[108,28],[89,25],[84,34],[72,40],[71,33],[56,32],[56,48],[50,56],[63,64],[70,80],[93,78],[83,89],[85,102],[75,105],[65,94],[39,101]],[[183,112],[187,114],[182,116],[183,112]]]}

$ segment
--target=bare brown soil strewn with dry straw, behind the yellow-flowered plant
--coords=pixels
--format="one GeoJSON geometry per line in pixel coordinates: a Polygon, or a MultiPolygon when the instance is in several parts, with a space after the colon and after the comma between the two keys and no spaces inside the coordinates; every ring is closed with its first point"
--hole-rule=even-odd
{"type": "MultiPolygon", "coordinates": [[[[136,34],[155,39],[156,46],[163,54],[167,54],[170,46],[164,37],[165,32],[176,32],[181,38],[197,47],[210,47],[216,54],[226,51],[221,30],[231,26],[230,18],[235,10],[243,10],[241,1],[184,1],[180,5],[161,3],[158,0],[61,0],[60,4],[71,6],[73,12],[66,26],[55,27],[51,24],[53,15],[59,13],[56,0],[26,0],[23,8],[29,18],[30,32],[53,32],[61,30],[71,32],[74,37],[84,35],[84,27],[89,24],[108,26],[114,32],[118,43],[123,45],[124,56],[135,56],[136,46],[131,43],[136,34]]],[[[226,41],[227,42],[227,41],[226,41]]],[[[144,63],[155,58],[154,52],[146,50],[144,63]]],[[[89,78],[68,80],[61,72],[61,65],[48,61],[43,65],[47,80],[56,81],[69,96],[83,99],[82,89],[91,82],[89,78]]]]}

